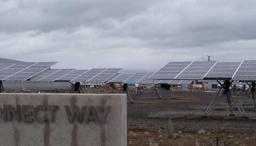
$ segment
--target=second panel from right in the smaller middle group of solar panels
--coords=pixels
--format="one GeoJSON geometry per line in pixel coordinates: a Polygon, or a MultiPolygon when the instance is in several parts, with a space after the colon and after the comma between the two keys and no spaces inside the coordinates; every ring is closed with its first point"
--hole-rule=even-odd
{"type": "Polygon", "coordinates": [[[92,68],[86,73],[78,75],[76,78],[72,79],[71,82],[87,82],[89,79],[92,79],[105,70],[106,68],[92,68]]]}

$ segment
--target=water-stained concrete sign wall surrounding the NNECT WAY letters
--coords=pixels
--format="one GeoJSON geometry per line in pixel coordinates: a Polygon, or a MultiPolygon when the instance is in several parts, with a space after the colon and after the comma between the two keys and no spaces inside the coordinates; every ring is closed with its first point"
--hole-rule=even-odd
{"type": "MultiPolygon", "coordinates": [[[[38,112],[39,117],[48,117],[46,121],[39,122],[32,116],[4,121],[0,117],[0,145],[8,146],[120,146],[126,145],[127,132],[127,105],[126,94],[40,94],[40,93],[1,93],[0,109],[4,105],[58,105],[55,121],[51,122],[49,111],[38,112]],[[88,123],[74,123],[66,115],[65,105],[70,109],[77,106],[82,113],[82,106],[101,106],[110,109],[106,115],[106,123],[96,123],[90,113],[88,123]],[[25,122],[32,118],[34,122],[25,122]]],[[[47,108],[48,108],[47,106],[47,108]]],[[[22,111],[23,106],[21,107],[22,111]]],[[[18,108],[17,108],[18,109],[18,108]]],[[[86,109],[87,111],[87,109],[86,109]]],[[[92,110],[93,111],[93,110],[92,110]]],[[[4,111],[3,111],[4,112],[4,111]]],[[[17,112],[19,113],[19,112],[17,112]]],[[[21,112],[21,116],[24,112],[21,112]]],[[[27,111],[26,114],[29,114],[27,111]]],[[[31,114],[31,113],[30,113],[31,114]]],[[[18,114],[19,115],[19,114],[18,114]]],[[[33,115],[36,115],[34,111],[33,115]]],[[[85,116],[86,117],[86,116],[85,116]]],[[[97,115],[98,117],[98,115],[97,115]]],[[[84,118],[83,118],[84,119],[84,118]]]]}

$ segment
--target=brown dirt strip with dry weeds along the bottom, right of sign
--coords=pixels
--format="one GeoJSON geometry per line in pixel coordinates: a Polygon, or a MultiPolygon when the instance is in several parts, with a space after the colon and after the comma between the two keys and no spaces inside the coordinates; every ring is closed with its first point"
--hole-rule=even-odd
{"type": "Polygon", "coordinates": [[[215,145],[217,137],[220,138],[220,144],[226,143],[231,145],[246,145],[255,146],[256,136],[251,134],[229,134],[229,133],[176,133],[174,138],[166,138],[162,132],[159,131],[145,131],[145,130],[129,130],[127,132],[128,146],[201,146],[201,145],[215,145]]]}

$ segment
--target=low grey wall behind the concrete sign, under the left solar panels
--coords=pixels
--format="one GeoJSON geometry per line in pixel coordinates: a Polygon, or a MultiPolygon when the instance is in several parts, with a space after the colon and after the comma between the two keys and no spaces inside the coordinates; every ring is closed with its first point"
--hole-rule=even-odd
{"type": "Polygon", "coordinates": [[[69,89],[71,84],[69,82],[21,82],[21,81],[4,81],[3,86],[8,90],[52,90],[52,89],[69,89]]]}

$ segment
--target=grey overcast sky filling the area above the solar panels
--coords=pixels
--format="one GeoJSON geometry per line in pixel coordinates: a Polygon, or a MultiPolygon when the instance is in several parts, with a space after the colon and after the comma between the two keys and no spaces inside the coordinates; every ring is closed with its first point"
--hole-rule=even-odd
{"type": "Polygon", "coordinates": [[[0,0],[2,58],[154,71],[256,60],[256,1],[0,0]]]}

